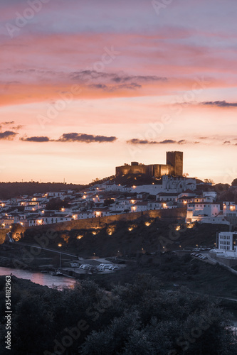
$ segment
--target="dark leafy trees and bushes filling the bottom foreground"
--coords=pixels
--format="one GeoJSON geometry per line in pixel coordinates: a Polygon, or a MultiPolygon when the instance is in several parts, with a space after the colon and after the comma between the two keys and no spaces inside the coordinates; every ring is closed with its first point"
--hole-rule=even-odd
{"type": "MultiPolygon", "coordinates": [[[[1,339],[5,277],[0,278],[1,339]]],[[[84,280],[56,290],[12,277],[11,351],[0,354],[236,354],[236,338],[218,302],[187,288],[164,290],[157,278],[101,288],[84,280]]]]}

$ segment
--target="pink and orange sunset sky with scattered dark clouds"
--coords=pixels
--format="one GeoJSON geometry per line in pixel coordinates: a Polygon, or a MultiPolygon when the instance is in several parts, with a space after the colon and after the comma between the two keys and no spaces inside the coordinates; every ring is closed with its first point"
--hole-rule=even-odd
{"type": "Polygon", "coordinates": [[[237,178],[236,0],[1,0],[1,181],[237,178]]]}

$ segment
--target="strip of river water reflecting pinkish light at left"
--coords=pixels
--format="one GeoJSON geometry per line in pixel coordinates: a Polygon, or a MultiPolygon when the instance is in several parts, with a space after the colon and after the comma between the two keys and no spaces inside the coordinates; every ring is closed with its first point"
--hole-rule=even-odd
{"type": "Polygon", "coordinates": [[[25,278],[26,280],[31,280],[33,283],[38,283],[39,285],[48,286],[53,288],[53,286],[73,286],[76,280],[73,278],[66,278],[64,276],[53,276],[50,273],[33,273],[31,271],[19,270],[16,268],[0,268],[0,275],[12,275],[17,278],[25,278]]]}

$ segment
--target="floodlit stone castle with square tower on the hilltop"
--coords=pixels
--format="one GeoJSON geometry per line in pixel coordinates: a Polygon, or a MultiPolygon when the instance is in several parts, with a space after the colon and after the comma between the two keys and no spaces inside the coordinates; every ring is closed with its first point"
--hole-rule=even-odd
{"type": "Polygon", "coordinates": [[[167,152],[166,164],[144,165],[133,161],[131,165],[116,167],[116,176],[127,174],[144,174],[161,178],[163,175],[182,176],[183,175],[183,152],[167,152]]]}

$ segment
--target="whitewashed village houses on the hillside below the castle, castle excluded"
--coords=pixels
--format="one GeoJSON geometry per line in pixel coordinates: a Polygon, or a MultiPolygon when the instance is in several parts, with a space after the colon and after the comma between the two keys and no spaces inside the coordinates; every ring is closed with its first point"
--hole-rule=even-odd
{"type": "Polygon", "coordinates": [[[107,180],[79,192],[62,190],[1,200],[1,228],[11,228],[16,223],[26,227],[40,226],[179,207],[186,209],[188,224],[201,222],[231,225],[236,222],[235,202],[219,202],[217,192],[206,191],[211,182],[167,175],[162,176],[159,182],[128,186],[107,180]]]}

